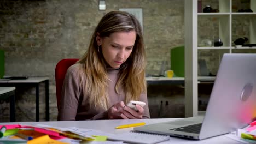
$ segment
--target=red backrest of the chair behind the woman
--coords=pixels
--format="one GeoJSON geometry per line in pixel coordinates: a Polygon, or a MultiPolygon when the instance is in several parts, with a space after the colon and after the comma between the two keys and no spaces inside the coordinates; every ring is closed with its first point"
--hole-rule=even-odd
{"type": "Polygon", "coordinates": [[[63,81],[67,72],[67,69],[75,64],[78,61],[78,58],[66,58],[62,59],[57,63],[55,68],[55,85],[56,85],[56,97],[57,97],[57,107],[58,111],[60,109],[60,100],[61,100],[61,89],[63,81]]]}

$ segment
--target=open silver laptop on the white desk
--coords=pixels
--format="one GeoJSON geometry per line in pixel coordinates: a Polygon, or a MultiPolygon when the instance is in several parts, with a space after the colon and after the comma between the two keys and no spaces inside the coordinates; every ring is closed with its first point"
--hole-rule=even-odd
{"type": "Polygon", "coordinates": [[[204,117],[133,128],[136,131],[202,140],[237,128],[256,117],[256,54],[224,54],[204,117]]]}

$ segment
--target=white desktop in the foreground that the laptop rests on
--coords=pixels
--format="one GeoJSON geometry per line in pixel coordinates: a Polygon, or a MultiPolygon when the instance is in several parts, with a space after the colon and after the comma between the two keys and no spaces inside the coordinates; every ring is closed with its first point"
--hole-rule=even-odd
{"type": "MultiPolygon", "coordinates": [[[[77,128],[85,128],[85,129],[95,129],[101,130],[106,133],[112,134],[120,134],[126,133],[127,131],[133,130],[133,128],[125,128],[125,129],[114,129],[114,127],[122,124],[129,124],[129,123],[138,123],[138,122],[146,122],[147,124],[159,123],[159,122],[166,122],[166,121],[173,121],[178,118],[161,118],[161,119],[129,119],[129,120],[96,120],[96,121],[62,121],[62,122],[21,122],[19,124],[46,124],[55,127],[77,127],[77,128]]],[[[0,123],[0,125],[4,124],[15,124],[15,123],[0,123]]],[[[235,140],[231,140],[228,137],[216,136],[210,139],[205,140],[187,140],[181,139],[177,137],[171,137],[170,141],[161,142],[161,143],[232,143],[236,144],[239,143],[235,140]]]]}

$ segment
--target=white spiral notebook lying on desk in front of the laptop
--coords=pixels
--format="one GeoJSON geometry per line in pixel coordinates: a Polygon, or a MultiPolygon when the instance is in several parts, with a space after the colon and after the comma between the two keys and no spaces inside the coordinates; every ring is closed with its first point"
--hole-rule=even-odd
{"type": "Polygon", "coordinates": [[[170,139],[168,135],[158,135],[141,133],[137,131],[130,131],[129,133],[118,134],[108,137],[108,140],[112,141],[124,141],[128,143],[142,143],[142,144],[154,144],[170,139]]]}

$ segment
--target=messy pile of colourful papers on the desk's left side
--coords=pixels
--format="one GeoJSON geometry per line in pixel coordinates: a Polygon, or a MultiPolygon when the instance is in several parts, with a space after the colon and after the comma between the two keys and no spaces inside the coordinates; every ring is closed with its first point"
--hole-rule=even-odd
{"type": "Polygon", "coordinates": [[[92,129],[57,128],[49,125],[0,125],[0,143],[80,143],[81,141],[106,141],[110,134],[92,129]]]}

